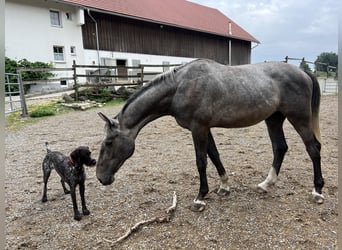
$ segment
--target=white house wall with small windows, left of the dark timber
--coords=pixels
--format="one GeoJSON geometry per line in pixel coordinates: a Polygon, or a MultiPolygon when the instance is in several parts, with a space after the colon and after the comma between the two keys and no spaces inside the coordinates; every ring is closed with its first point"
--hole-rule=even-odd
{"type": "Polygon", "coordinates": [[[73,60],[83,62],[77,12],[75,7],[49,0],[6,0],[5,55],[14,60],[54,63],[55,67],[70,67],[73,60]],[[62,27],[51,26],[50,9],[60,11],[62,27]],[[66,12],[71,13],[72,20],[67,20],[66,12]],[[65,62],[54,61],[54,45],[64,46],[65,62]],[[70,54],[70,46],[76,47],[76,55],[70,54]]]}

